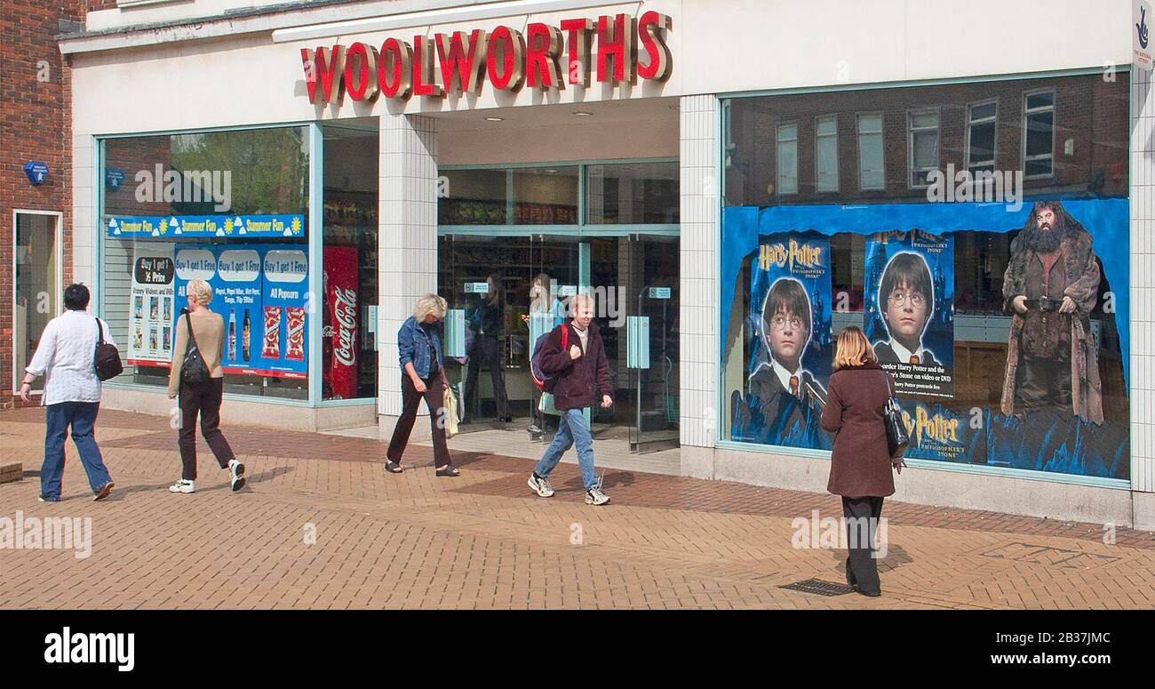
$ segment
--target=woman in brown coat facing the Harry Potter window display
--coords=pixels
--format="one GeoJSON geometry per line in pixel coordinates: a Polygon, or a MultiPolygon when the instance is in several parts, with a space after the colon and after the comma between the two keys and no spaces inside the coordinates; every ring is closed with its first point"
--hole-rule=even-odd
{"type": "Polygon", "coordinates": [[[874,532],[882,514],[882,498],[894,495],[893,471],[902,473],[902,457],[892,458],[886,443],[882,408],[894,381],[862,329],[839,333],[834,373],[827,391],[822,428],[834,434],[830,480],[826,489],[842,496],[847,523],[847,584],[863,595],[881,595],[874,532]],[[865,541],[865,542],[863,542],[865,541]]]}

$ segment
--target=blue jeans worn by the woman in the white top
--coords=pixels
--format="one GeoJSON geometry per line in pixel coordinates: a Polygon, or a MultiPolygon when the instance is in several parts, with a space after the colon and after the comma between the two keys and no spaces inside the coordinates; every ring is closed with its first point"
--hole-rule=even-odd
{"type": "Polygon", "coordinates": [[[59,402],[46,407],[47,432],[44,436],[44,466],[40,468],[40,497],[44,499],[60,499],[60,479],[65,473],[65,440],[68,438],[69,427],[92,492],[104,488],[105,483],[112,480],[109,469],[104,468],[100,449],[96,446],[96,438],[92,436],[96,413],[99,409],[100,402],[59,402]]]}

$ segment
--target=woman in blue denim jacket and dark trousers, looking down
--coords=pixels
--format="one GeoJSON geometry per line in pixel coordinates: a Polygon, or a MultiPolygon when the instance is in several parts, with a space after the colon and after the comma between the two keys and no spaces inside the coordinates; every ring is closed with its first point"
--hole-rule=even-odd
{"type": "Polygon", "coordinates": [[[393,427],[393,437],[386,451],[385,471],[402,473],[401,458],[409,444],[409,435],[417,420],[422,399],[430,410],[430,428],[433,434],[433,464],[438,476],[459,476],[453,466],[449,447],[445,439],[445,391],[449,387],[445,379],[445,358],[441,355],[442,319],[446,301],[427,294],[417,299],[413,314],[401,324],[397,331],[398,363],[401,364],[401,416],[393,427]]]}

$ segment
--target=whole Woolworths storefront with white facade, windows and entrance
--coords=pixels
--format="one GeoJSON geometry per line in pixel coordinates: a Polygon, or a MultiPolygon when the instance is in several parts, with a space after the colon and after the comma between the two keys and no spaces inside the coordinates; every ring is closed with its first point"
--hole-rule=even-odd
{"type": "Polygon", "coordinates": [[[858,325],[914,437],[897,499],[1155,526],[1128,3],[979,1],[959,32],[897,0],[244,5],[61,38],[72,260],[132,364],[106,406],[169,408],[201,276],[230,420],[387,434],[396,331],[437,291],[467,415],[520,430],[544,275],[599,302],[595,430],[685,475],[825,490],[858,325]],[[1064,51],[1022,40],[1041,22],[1064,51]]]}

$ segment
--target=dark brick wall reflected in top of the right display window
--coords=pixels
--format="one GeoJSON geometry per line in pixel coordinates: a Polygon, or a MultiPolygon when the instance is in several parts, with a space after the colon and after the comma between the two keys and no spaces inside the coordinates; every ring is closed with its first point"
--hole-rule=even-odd
{"type": "Polygon", "coordinates": [[[1024,180],[1027,194],[1127,193],[1127,74],[1115,81],[1102,75],[1024,79],[985,83],[874,89],[743,98],[732,102],[733,162],[726,170],[726,201],[739,206],[836,203],[854,200],[918,201],[925,188],[910,188],[908,112],[939,112],[939,162],[945,170],[966,169],[968,104],[996,99],[996,170],[1022,169],[1023,94],[1055,90],[1055,178],[1024,180]],[[862,191],[858,181],[858,113],[881,113],[886,187],[862,191]],[[839,191],[815,191],[815,120],[837,118],[839,191]],[[798,193],[778,195],[776,133],[778,125],[798,126],[798,193]],[[1064,153],[1071,140],[1073,155],[1064,153]]]}

